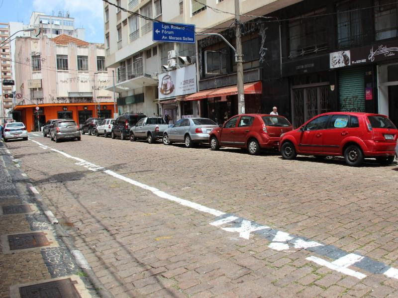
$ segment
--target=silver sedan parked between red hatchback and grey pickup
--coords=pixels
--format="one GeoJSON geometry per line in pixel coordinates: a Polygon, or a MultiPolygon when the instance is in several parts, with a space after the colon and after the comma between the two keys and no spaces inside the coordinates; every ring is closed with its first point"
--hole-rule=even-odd
{"type": "Polygon", "coordinates": [[[185,118],[178,120],[163,133],[163,144],[185,143],[187,148],[197,143],[208,143],[209,132],[218,125],[208,118],[185,118]]]}

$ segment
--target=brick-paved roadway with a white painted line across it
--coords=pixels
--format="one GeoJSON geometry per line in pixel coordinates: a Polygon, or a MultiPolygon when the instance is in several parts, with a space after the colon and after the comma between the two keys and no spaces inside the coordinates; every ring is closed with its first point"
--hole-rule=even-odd
{"type": "MultiPolygon", "coordinates": [[[[240,150],[186,149],[83,136],[42,144],[170,195],[398,267],[397,166],[240,150]]],[[[396,297],[398,281],[359,280],[275,251],[258,235],[210,225],[214,216],[93,172],[33,142],[7,146],[115,297],[396,297]],[[54,175],[56,174],[56,175],[54,175]]],[[[331,260],[330,260],[331,261],[331,260]]]]}

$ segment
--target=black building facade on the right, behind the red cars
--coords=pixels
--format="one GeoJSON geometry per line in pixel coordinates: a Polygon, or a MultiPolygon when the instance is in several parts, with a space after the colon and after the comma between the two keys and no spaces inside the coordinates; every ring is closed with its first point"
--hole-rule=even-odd
{"type": "MultiPolygon", "coordinates": [[[[398,4],[392,2],[304,0],[243,24],[244,81],[262,82],[259,111],[276,105],[295,127],[327,111],[378,112],[398,125],[398,4]]],[[[234,45],[232,29],[221,34],[234,45]]],[[[221,39],[199,40],[198,48],[199,92],[236,84],[233,52],[221,39]]],[[[230,102],[232,115],[237,102],[230,102]]]]}

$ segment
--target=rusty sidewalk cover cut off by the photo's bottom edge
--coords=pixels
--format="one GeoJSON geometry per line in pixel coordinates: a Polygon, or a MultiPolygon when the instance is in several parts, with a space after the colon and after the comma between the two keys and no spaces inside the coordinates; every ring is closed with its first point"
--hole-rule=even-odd
{"type": "Polygon", "coordinates": [[[81,298],[71,279],[58,280],[19,288],[21,298],[81,298]]]}

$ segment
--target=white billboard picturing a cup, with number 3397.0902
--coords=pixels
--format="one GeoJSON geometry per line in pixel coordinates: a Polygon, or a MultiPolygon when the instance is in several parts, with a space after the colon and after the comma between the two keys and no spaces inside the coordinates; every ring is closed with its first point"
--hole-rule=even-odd
{"type": "Polygon", "coordinates": [[[197,92],[196,65],[159,74],[158,98],[166,99],[197,92]]]}

